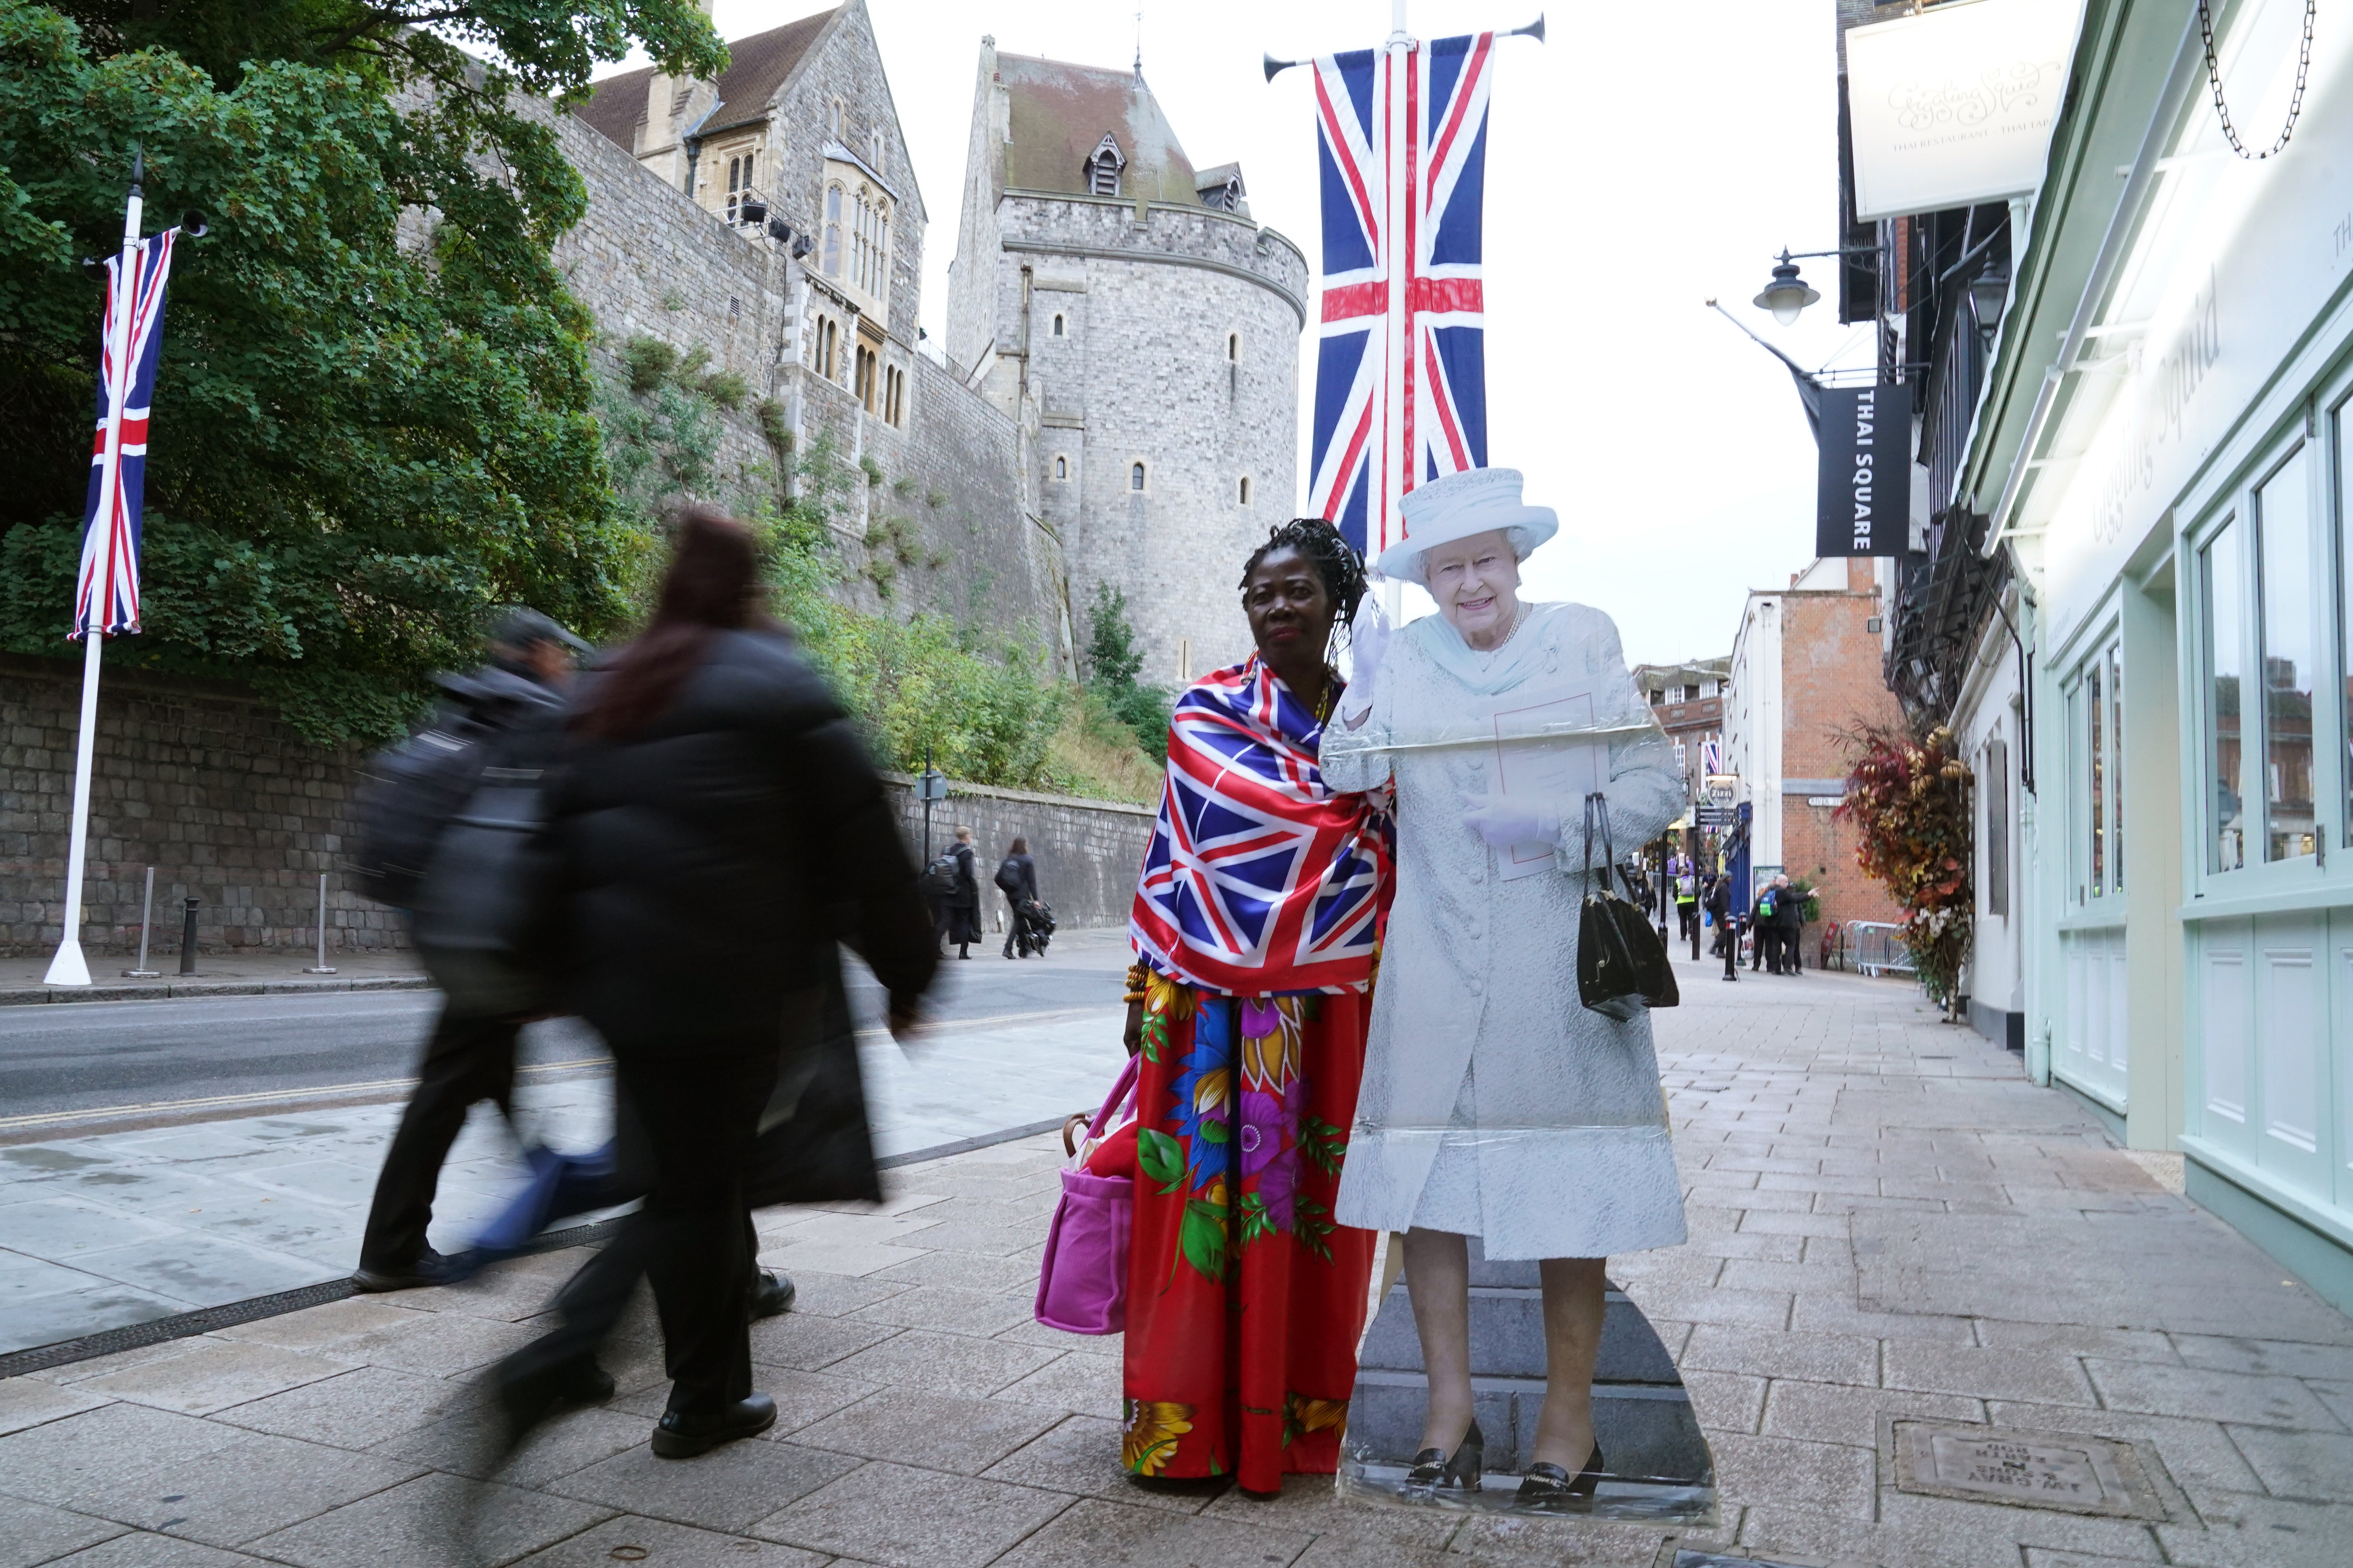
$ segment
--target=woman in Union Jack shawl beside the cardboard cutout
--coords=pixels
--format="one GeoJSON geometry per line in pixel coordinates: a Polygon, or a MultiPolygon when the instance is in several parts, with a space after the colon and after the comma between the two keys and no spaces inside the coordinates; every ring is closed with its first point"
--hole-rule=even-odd
{"type": "Polygon", "coordinates": [[[1139,1476],[1332,1474],[1374,1237],[1332,1220],[1388,905],[1386,816],[1325,785],[1337,625],[1365,595],[1322,520],[1242,571],[1257,642],[1195,682],[1129,931],[1136,1215],[1122,1460],[1139,1476]]]}

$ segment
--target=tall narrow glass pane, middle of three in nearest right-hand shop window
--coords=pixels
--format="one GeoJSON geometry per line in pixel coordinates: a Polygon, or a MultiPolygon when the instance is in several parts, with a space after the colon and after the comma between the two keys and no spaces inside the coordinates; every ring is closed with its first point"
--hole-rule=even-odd
{"type": "Polygon", "coordinates": [[[2313,853],[2313,520],[2304,447],[2254,491],[2264,635],[2264,858],[2313,853]]]}

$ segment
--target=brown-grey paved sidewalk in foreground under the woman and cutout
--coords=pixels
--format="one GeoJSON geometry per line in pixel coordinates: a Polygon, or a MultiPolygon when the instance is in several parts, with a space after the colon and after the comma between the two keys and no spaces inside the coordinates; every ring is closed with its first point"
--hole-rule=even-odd
{"type": "MultiPolygon", "coordinates": [[[[1612,1274],[1682,1366],[1708,1535],[1141,1490],[1118,1340],[1028,1321],[1047,1138],[894,1173],[878,1211],[762,1215],[800,1307],[755,1331],[784,1418],[692,1462],[640,1312],[621,1394],[468,1481],[473,1378],[576,1260],[346,1300],[0,1382],[0,1566],[529,1561],[1108,1568],[1624,1563],[2341,1568],[2353,1324],[1894,983],[1682,969],[1659,1018],[1692,1241],[1612,1274]],[[1904,1490],[1901,1422],[2111,1436],[2146,1516],[1904,1490]],[[459,1544],[482,1502],[482,1552],[459,1544]],[[198,1544],[202,1542],[202,1544],[198,1544]]],[[[2047,1443],[2045,1443],[2047,1450],[2047,1443]]],[[[2031,1472],[2021,1472],[2031,1474],[2031,1472]]]]}

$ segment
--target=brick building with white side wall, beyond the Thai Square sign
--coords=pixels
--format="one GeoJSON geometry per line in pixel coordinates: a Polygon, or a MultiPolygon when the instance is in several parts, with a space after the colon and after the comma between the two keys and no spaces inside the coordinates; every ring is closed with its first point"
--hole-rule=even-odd
{"type": "MultiPolygon", "coordinates": [[[[1845,736],[1897,724],[1880,672],[1882,562],[1819,559],[1788,588],[1758,588],[1732,642],[1725,766],[1751,806],[1758,882],[1788,872],[1814,884],[1826,922],[1899,919],[1887,891],[1854,865],[1854,827],[1833,811],[1847,792],[1845,736]]],[[[1807,961],[1817,929],[1807,929],[1807,961]]]]}

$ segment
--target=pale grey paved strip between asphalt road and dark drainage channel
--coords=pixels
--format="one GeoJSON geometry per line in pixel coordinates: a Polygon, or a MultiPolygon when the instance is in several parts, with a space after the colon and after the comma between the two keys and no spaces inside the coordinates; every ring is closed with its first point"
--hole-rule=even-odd
{"type": "MultiPolygon", "coordinates": [[[[1106,990],[1113,1006],[948,1023],[913,1051],[866,1032],[875,1150],[936,1150],[1092,1110],[1122,1060],[1115,983],[1106,990]]],[[[595,1065],[522,1070],[527,1135],[574,1152],[605,1143],[600,1041],[572,1020],[532,1027],[562,1032],[558,1060],[595,1065]]],[[[0,1354],[351,1274],[398,1121],[388,1100],[0,1147],[0,1354]]],[[[520,1173],[506,1124],[478,1105],[442,1166],[433,1246],[466,1246],[520,1173]]]]}

